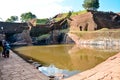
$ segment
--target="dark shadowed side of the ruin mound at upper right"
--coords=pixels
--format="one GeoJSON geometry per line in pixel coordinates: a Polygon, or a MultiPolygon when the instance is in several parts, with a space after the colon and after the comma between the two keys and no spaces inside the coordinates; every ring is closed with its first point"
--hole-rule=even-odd
{"type": "Polygon", "coordinates": [[[113,12],[92,12],[97,30],[102,28],[120,28],[120,16],[113,12]]]}

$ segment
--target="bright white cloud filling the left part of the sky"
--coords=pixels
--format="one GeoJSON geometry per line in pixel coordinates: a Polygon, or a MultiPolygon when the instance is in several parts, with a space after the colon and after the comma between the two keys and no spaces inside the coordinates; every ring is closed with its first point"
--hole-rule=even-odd
{"type": "Polygon", "coordinates": [[[38,18],[52,17],[61,12],[72,10],[70,6],[62,6],[64,0],[0,0],[0,18],[20,16],[32,12],[38,18]]]}

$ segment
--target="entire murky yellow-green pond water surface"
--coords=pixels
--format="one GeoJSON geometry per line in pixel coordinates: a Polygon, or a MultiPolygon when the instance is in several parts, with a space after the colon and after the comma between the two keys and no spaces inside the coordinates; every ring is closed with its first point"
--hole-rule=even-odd
{"type": "Polygon", "coordinates": [[[80,71],[93,68],[118,52],[75,45],[29,46],[15,50],[38,60],[44,66],[54,64],[60,69],[80,71]]]}

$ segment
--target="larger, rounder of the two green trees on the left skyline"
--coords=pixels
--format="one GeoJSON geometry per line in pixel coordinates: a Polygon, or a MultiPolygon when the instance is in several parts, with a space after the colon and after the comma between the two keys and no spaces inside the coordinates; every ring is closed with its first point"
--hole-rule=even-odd
{"type": "Polygon", "coordinates": [[[28,21],[30,19],[34,19],[34,18],[36,18],[36,15],[32,14],[31,12],[21,14],[21,21],[22,22],[26,22],[26,21],[28,21]]]}

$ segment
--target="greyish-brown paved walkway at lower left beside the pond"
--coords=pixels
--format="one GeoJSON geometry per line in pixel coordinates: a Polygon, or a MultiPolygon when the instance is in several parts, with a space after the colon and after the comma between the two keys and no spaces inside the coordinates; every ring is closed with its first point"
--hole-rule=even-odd
{"type": "Polygon", "coordinates": [[[9,58],[0,56],[0,80],[50,80],[18,55],[10,51],[9,58]]]}

